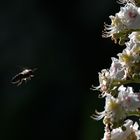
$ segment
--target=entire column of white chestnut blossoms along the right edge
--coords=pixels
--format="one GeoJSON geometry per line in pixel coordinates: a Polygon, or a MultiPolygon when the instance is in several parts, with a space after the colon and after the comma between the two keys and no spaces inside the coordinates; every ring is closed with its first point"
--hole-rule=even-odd
{"type": "Polygon", "coordinates": [[[140,91],[129,84],[140,84],[140,0],[119,0],[120,11],[109,16],[103,37],[123,45],[124,49],[112,57],[109,69],[99,75],[100,96],[105,98],[102,112],[95,111],[92,118],[103,119],[105,133],[102,140],[140,140],[140,91]],[[131,116],[133,116],[131,118],[131,116]],[[131,119],[130,119],[131,118],[131,119]]]}

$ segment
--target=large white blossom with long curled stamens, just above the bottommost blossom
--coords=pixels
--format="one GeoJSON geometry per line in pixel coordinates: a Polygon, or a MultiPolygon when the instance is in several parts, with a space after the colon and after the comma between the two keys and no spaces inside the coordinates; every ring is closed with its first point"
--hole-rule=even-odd
{"type": "Polygon", "coordinates": [[[134,93],[132,87],[124,87],[123,85],[118,88],[118,96],[115,98],[110,94],[106,94],[105,110],[97,112],[93,118],[100,120],[104,118],[105,125],[110,124],[112,127],[117,127],[122,124],[123,120],[133,115],[139,115],[138,109],[140,108],[140,93],[134,93]]]}

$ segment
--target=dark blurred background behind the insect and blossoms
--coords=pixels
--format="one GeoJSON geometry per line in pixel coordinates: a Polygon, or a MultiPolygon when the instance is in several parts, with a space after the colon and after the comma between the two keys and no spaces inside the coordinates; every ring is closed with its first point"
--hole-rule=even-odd
{"type": "Polygon", "coordinates": [[[92,85],[120,47],[101,37],[119,11],[107,0],[0,1],[0,139],[99,140],[103,111],[92,85]],[[16,86],[24,68],[35,77],[16,86]]]}

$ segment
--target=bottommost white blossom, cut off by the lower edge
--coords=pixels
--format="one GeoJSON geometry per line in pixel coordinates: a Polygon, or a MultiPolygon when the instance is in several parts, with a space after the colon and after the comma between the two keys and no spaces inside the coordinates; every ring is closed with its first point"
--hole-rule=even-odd
{"type": "Polygon", "coordinates": [[[104,138],[102,140],[139,140],[140,131],[138,130],[138,123],[133,124],[132,120],[126,120],[124,126],[113,129],[111,132],[105,127],[104,138]]]}

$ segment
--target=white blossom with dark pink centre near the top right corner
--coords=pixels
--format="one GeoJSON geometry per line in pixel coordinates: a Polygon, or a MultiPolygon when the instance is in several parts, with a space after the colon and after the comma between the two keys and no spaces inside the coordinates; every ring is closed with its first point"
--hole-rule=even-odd
{"type": "Polygon", "coordinates": [[[113,37],[124,30],[140,28],[140,9],[132,3],[126,3],[115,16],[109,18],[111,25],[105,24],[103,37],[113,37]]]}

